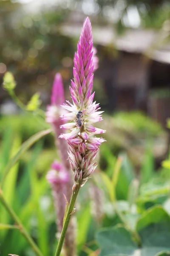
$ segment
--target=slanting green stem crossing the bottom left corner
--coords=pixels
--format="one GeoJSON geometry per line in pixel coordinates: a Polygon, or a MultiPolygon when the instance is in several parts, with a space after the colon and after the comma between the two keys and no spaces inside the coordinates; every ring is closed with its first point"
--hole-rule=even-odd
{"type": "Polygon", "coordinates": [[[15,223],[19,226],[21,234],[28,241],[28,244],[30,244],[30,246],[34,250],[35,254],[37,256],[43,256],[43,254],[41,253],[40,249],[37,247],[37,245],[34,243],[33,239],[31,238],[31,236],[26,231],[25,227],[23,227],[23,224],[21,223],[20,219],[18,218],[18,216],[16,215],[14,210],[11,208],[11,206],[8,204],[8,202],[4,198],[3,191],[1,189],[0,189],[0,201],[3,204],[3,206],[5,207],[6,211],[9,213],[9,215],[11,215],[11,218],[13,218],[15,223]]]}

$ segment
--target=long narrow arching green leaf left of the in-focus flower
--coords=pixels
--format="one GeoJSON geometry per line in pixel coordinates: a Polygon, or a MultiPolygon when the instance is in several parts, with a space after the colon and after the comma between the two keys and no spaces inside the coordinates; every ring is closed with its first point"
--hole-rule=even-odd
{"type": "Polygon", "coordinates": [[[37,134],[34,134],[32,137],[30,137],[28,140],[26,140],[20,147],[20,149],[17,151],[17,153],[14,155],[14,157],[11,158],[11,160],[9,161],[8,165],[6,166],[6,169],[4,171],[4,175],[3,178],[1,180],[1,185],[3,184],[6,175],[8,174],[8,172],[11,170],[11,167],[14,166],[14,164],[19,160],[19,158],[21,157],[21,155],[28,149],[31,147],[31,145],[33,145],[37,140],[39,140],[40,138],[42,138],[43,136],[49,134],[51,132],[51,129],[47,129],[44,131],[40,131],[37,134]]]}

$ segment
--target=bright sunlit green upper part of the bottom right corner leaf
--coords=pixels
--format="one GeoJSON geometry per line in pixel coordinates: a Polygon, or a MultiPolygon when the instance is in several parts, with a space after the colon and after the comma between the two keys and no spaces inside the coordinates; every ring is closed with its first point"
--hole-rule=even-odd
{"type": "Polygon", "coordinates": [[[136,230],[139,232],[151,224],[162,222],[166,223],[167,227],[170,229],[170,216],[160,205],[154,206],[145,211],[141,218],[139,218],[136,224],[136,230]]]}

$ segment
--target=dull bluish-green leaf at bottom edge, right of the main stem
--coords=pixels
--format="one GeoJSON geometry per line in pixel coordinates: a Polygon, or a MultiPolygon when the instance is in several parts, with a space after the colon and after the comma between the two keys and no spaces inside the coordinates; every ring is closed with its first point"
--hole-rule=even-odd
{"type": "Polygon", "coordinates": [[[138,249],[130,233],[120,226],[102,229],[96,234],[100,256],[132,255],[138,249]]]}

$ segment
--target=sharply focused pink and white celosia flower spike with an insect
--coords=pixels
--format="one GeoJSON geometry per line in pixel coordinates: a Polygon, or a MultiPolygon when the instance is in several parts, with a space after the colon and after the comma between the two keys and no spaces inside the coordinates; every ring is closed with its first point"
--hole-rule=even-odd
{"type": "Polygon", "coordinates": [[[98,111],[99,104],[93,102],[94,93],[91,93],[94,76],[93,55],[91,23],[89,18],[86,18],[74,55],[74,80],[71,81],[70,87],[73,104],[67,101],[63,108],[70,113],[61,115],[63,120],[71,122],[61,125],[60,128],[70,129],[71,132],[59,136],[68,141],[74,180],[81,185],[96,169],[96,154],[101,143],[105,141],[102,137],[94,136],[105,133],[105,130],[92,125],[102,120],[103,112],[98,111]]]}

